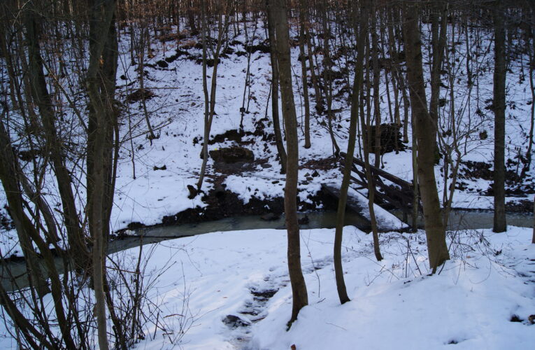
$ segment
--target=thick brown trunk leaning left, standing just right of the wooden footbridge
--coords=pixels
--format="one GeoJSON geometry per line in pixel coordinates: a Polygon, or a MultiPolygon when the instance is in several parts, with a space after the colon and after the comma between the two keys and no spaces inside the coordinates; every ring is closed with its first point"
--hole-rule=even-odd
{"type": "Polygon", "coordinates": [[[418,180],[424,209],[425,232],[429,251],[429,267],[436,268],[449,260],[442,223],[440,202],[436,190],[434,174],[434,151],[436,144],[436,120],[427,111],[424,75],[422,68],[422,48],[418,29],[418,7],[416,1],[404,4],[404,41],[406,49],[408,85],[411,106],[418,137],[418,180]]]}

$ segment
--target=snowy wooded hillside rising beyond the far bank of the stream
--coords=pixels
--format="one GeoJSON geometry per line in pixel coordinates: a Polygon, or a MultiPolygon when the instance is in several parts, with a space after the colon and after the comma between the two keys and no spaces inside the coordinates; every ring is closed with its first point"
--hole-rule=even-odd
{"type": "MultiPolygon", "coordinates": [[[[265,31],[261,20],[257,22],[255,38],[252,43],[257,45],[263,43],[265,31]]],[[[254,22],[249,22],[248,37],[252,38],[254,22]]],[[[234,26],[231,26],[234,28],[234,26]]],[[[217,115],[213,120],[211,138],[218,134],[223,134],[229,130],[237,130],[240,126],[242,104],[248,110],[243,118],[243,130],[253,133],[260,128],[266,134],[273,132],[271,123],[271,107],[269,105],[270,83],[270,59],[269,54],[262,52],[252,52],[250,59],[251,80],[243,102],[243,92],[245,88],[245,71],[247,67],[247,57],[245,55],[245,34],[243,23],[239,23],[237,28],[239,34],[231,30],[232,38],[229,48],[234,53],[229,53],[222,57],[217,74],[217,96],[215,111],[217,115]],[[262,123],[260,125],[259,123],[262,123]]],[[[425,28],[424,28],[425,29],[425,28]]],[[[173,216],[180,211],[192,208],[204,208],[206,203],[201,200],[201,195],[194,199],[188,199],[188,185],[194,186],[199,178],[201,169],[201,144],[204,134],[204,97],[202,91],[202,67],[196,62],[195,57],[200,57],[199,48],[184,48],[192,43],[198,43],[199,37],[186,37],[180,41],[159,41],[152,38],[152,54],[147,59],[145,66],[145,88],[150,90],[154,97],[147,99],[147,109],[152,127],[159,139],[150,142],[146,139],[147,126],[141,102],[129,103],[127,97],[132,92],[136,92],[139,87],[138,66],[131,60],[131,47],[129,27],[120,31],[120,62],[117,71],[117,99],[122,102],[120,139],[122,147],[120,150],[120,160],[117,169],[117,181],[115,191],[115,201],[111,215],[110,225],[113,231],[127,228],[129,223],[142,223],[144,225],[155,225],[162,223],[165,216],[173,216]],[[176,53],[182,55],[176,57],[176,53]],[[184,53],[186,52],[186,53],[184,53]],[[163,62],[163,63],[162,63],[163,62]],[[164,169],[161,169],[164,167],[164,169]],[[135,169],[135,170],[134,170],[135,169]]],[[[172,28],[172,31],[176,28],[172,28]]],[[[459,30],[458,28],[456,29],[459,30]]],[[[457,130],[463,135],[460,139],[462,144],[463,160],[491,163],[493,158],[493,126],[492,113],[485,109],[488,99],[492,97],[492,35],[470,36],[471,45],[487,47],[484,55],[472,57],[473,73],[478,75],[474,78],[476,85],[468,87],[466,85],[466,45],[464,45],[464,35],[455,32],[455,36],[462,45],[455,44],[456,53],[450,53],[448,62],[456,63],[454,90],[455,108],[458,109],[459,118],[457,120],[457,130]],[[479,112],[478,112],[479,111],[479,112]],[[481,139],[480,132],[487,132],[488,137],[481,139]]],[[[427,33],[427,30],[425,30],[427,33]]],[[[292,33],[296,35],[295,32],[292,33]]],[[[422,36],[424,42],[429,41],[427,34],[422,36]]],[[[333,43],[335,46],[339,42],[333,43]]],[[[450,43],[451,44],[451,43],[450,43]]],[[[427,62],[429,52],[425,51],[424,62],[427,62]]],[[[345,67],[345,59],[351,58],[355,52],[349,52],[348,57],[338,57],[335,61],[334,70],[338,71],[345,67]]],[[[300,145],[304,145],[304,134],[302,132],[304,106],[301,97],[301,79],[299,66],[299,48],[292,48],[292,64],[294,76],[295,102],[297,106],[297,116],[299,124],[300,145]]],[[[517,57],[518,58],[518,57],[517,57]]],[[[322,62],[318,58],[319,64],[322,62]]],[[[425,69],[429,69],[428,64],[424,64],[425,69]]],[[[318,68],[317,68],[318,69],[318,68]]],[[[319,71],[322,68],[320,67],[319,71]]],[[[404,68],[402,68],[404,69],[404,68]]],[[[515,160],[519,153],[525,152],[526,135],[529,128],[531,95],[529,93],[529,80],[522,69],[526,69],[517,61],[511,61],[511,72],[508,75],[508,109],[507,109],[507,140],[506,159],[515,160]]],[[[317,71],[317,73],[319,73],[317,71]]],[[[211,69],[208,69],[208,84],[211,82],[211,69]]],[[[343,78],[338,79],[335,89],[343,88],[343,82],[352,81],[352,69],[343,78]]],[[[443,76],[443,82],[448,83],[447,76],[443,76]]],[[[429,85],[429,84],[428,84],[429,85]]],[[[429,86],[428,86],[429,87],[429,86]]],[[[313,89],[309,90],[311,93],[313,89]]],[[[441,116],[444,116],[441,126],[441,142],[451,144],[452,138],[448,135],[448,109],[452,105],[449,95],[450,89],[443,89],[441,98],[445,99],[445,104],[441,109],[441,116]],[[445,134],[444,134],[445,132],[445,134]]],[[[392,92],[391,92],[392,94],[392,92]]],[[[390,106],[387,104],[386,84],[382,73],[380,85],[381,113],[383,122],[390,116],[390,106]]],[[[391,98],[393,98],[391,96],[391,98]]],[[[400,97],[401,98],[401,97],[400,97]]],[[[327,127],[324,123],[324,116],[315,113],[314,99],[311,97],[311,139],[312,147],[299,149],[300,164],[303,169],[299,171],[299,200],[310,202],[309,196],[315,195],[320,190],[321,183],[341,181],[341,174],[338,172],[336,164],[332,162],[331,169],[314,169],[314,167],[304,166],[311,160],[324,160],[332,155],[332,146],[327,127]],[[318,176],[311,177],[307,174],[318,172],[318,176]]],[[[333,102],[333,109],[337,110],[336,118],[333,120],[336,140],[342,151],[347,147],[347,127],[350,114],[347,92],[340,94],[333,102]]],[[[402,104],[399,106],[403,110],[402,104]]],[[[66,109],[69,111],[69,109],[66,109]]],[[[76,117],[73,117],[76,120],[76,117]]],[[[411,127],[408,127],[408,136],[411,137],[411,127]]],[[[79,135],[77,137],[80,137],[79,135]]],[[[82,140],[83,141],[83,140],[82,140]]],[[[251,198],[259,200],[270,200],[273,197],[283,196],[284,176],[280,174],[280,165],[276,159],[276,146],[273,141],[264,141],[262,136],[247,134],[242,139],[243,146],[250,148],[255,155],[255,160],[259,162],[244,172],[236,174],[220,174],[213,167],[213,160],[208,160],[207,179],[204,182],[203,190],[208,193],[214,188],[214,181],[219,177],[222,185],[227,190],[231,190],[243,200],[248,202],[251,198]],[[221,179],[222,177],[222,179],[221,179]]],[[[223,148],[236,144],[235,141],[224,141],[210,145],[209,150],[223,148]]],[[[410,143],[409,145],[410,146],[410,143]]],[[[357,154],[360,146],[357,146],[357,154]]],[[[373,155],[371,156],[373,158],[373,155]]],[[[518,159],[517,159],[518,160],[518,159]]],[[[412,181],[411,168],[411,148],[401,151],[399,154],[387,153],[383,157],[383,165],[387,172],[399,176],[406,181],[412,181]]],[[[71,165],[73,174],[73,187],[76,188],[77,200],[80,203],[80,212],[83,212],[85,203],[85,179],[80,174],[78,165],[71,165]]],[[[444,159],[442,158],[436,165],[436,179],[439,195],[443,198],[444,191],[448,190],[449,183],[444,183],[443,174],[444,159]]],[[[29,165],[28,165],[29,167],[29,165]]],[[[512,166],[514,168],[514,165],[512,166]]],[[[463,174],[464,165],[461,166],[463,174]]],[[[535,162],[520,184],[533,183],[535,174],[535,162]]],[[[448,180],[449,181],[449,180],[448,180]]],[[[462,179],[465,183],[464,190],[456,190],[452,202],[452,207],[468,209],[492,209],[492,197],[485,191],[492,181],[484,179],[462,179]]],[[[61,201],[55,188],[55,180],[52,174],[47,174],[44,181],[46,200],[52,207],[60,207],[61,201]]],[[[532,195],[521,197],[507,197],[508,202],[518,202],[519,200],[532,200],[532,195]]],[[[3,190],[0,190],[0,213],[6,216],[3,209],[6,204],[3,190]]],[[[20,247],[17,246],[15,232],[3,232],[1,235],[1,247],[4,255],[20,255],[20,247]]]]}

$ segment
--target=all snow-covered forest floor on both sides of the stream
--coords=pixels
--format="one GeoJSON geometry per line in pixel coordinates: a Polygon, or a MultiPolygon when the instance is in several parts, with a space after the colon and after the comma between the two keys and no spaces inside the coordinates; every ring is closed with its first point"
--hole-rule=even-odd
{"type": "MultiPolygon", "coordinates": [[[[245,102],[247,55],[243,31],[222,57],[217,76],[217,116],[211,130],[211,139],[219,141],[210,149],[243,146],[252,151],[255,161],[220,167],[209,160],[202,188],[209,195],[189,199],[187,186],[195,186],[201,169],[204,100],[201,65],[197,62],[200,50],[185,44],[197,43],[198,38],[155,38],[152,43],[153,55],[143,73],[146,87],[153,92],[146,103],[159,138],[149,141],[145,138],[141,103],[134,98],[139,87],[137,66],[129,58],[128,35],[124,31],[121,34],[117,74],[119,99],[125,111],[121,123],[133,127],[121,130],[122,139],[128,141],[121,149],[117,169],[113,230],[280,212],[285,176],[280,174],[271,131],[269,54],[252,52],[250,90],[245,92],[245,102]],[[245,134],[236,140],[224,137],[229,130],[239,130],[242,106],[246,110],[245,134]],[[141,136],[129,141],[136,135],[141,136]]],[[[256,36],[255,44],[262,44],[264,28],[259,27],[256,36]]],[[[298,55],[299,49],[293,48],[295,72],[300,71],[298,55]]],[[[482,59],[481,64],[489,66],[490,58],[482,59]]],[[[338,68],[344,64],[337,62],[338,68]]],[[[529,82],[518,78],[518,66],[515,62],[511,65],[508,86],[506,159],[510,176],[506,200],[511,210],[530,212],[535,165],[525,176],[518,176],[522,167],[518,155],[525,152],[531,94],[529,82]]],[[[297,93],[301,80],[299,76],[294,78],[302,146],[303,104],[297,93]]],[[[464,139],[464,162],[452,207],[462,209],[492,209],[493,128],[483,105],[492,96],[492,75],[487,73],[480,79],[481,109],[476,102],[467,105],[466,118],[473,119],[461,125],[470,133],[464,139]],[[484,116],[476,110],[483,111],[484,116]],[[480,136],[483,132],[487,137],[480,136]]],[[[336,92],[343,91],[345,80],[352,81],[352,73],[336,79],[336,92]]],[[[466,92],[462,88],[457,91],[466,92]]],[[[381,95],[385,96],[383,82],[381,95]]],[[[457,105],[462,105],[462,97],[459,99],[457,105]]],[[[334,131],[342,151],[347,147],[347,101],[347,93],[342,92],[333,106],[337,111],[334,131]]],[[[388,115],[386,101],[384,98],[381,106],[383,116],[388,115]]],[[[324,208],[325,199],[318,194],[321,183],[341,181],[324,117],[313,113],[311,119],[312,147],[299,150],[302,211],[324,208]]],[[[410,138],[410,126],[408,134],[410,138]]],[[[410,147],[398,154],[386,153],[382,163],[387,172],[412,180],[410,147]]],[[[441,158],[435,168],[441,198],[448,189],[443,167],[441,158]]],[[[0,202],[5,202],[3,193],[0,202]]],[[[6,216],[4,209],[0,211],[6,216]]],[[[285,323],[290,317],[291,290],[284,230],[213,232],[143,247],[148,272],[145,278],[153,281],[148,283],[152,285],[148,291],[152,304],[145,305],[146,311],[155,311],[157,305],[161,314],[158,327],[145,325],[145,339],[136,349],[283,350],[292,345],[298,350],[439,349],[454,344],[456,349],[530,348],[535,339],[535,325],[529,321],[535,314],[531,229],[510,227],[503,234],[490,230],[448,232],[452,260],[436,276],[428,276],[422,231],[382,234],[380,246],[385,260],[381,262],[373,258],[370,235],[351,226],[344,232],[343,264],[352,302],[338,303],[331,258],[334,230],[302,230],[301,258],[309,306],[288,332],[285,323]]],[[[2,235],[4,255],[20,253],[15,237],[13,230],[2,235]]],[[[127,269],[138,256],[138,249],[122,251],[115,257],[127,269]]],[[[12,338],[0,338],[0,348],[15,346],[12,338]]]]}

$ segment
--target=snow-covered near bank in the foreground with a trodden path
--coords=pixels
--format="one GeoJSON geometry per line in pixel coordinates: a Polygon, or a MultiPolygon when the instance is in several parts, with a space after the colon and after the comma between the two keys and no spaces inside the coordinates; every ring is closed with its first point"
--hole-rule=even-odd
{"type": "MultiPolygon", "coordinates": [[[[348,226],[343,268],[352,301],[341,305],[332,263],[334,230],[303,230],[309,304],[289,331],[292,292],[284,230],[166,241],[153,248],[147,271],[171,268],[158,276],[149,295],[166,323],[178,328],[181,314],[188,327],[180,344],[170,340],[181,335],[178,329],[166,328],[164,335],[145,328],[146,339],[135,349],[287,350],[292,344],[306,350],[448,349],[451,344],[455,349],[531,349],[531,235],[526,228],[450,233],[452,260],[428,276],[423,232],[381,234],[384,260],[377,262],[371,235],[348,226]],[[515,316],[523,321],[511,322],[515,316]]],[[[122,260],[134,259],[138,249],[120,254],[122,260]]]]}

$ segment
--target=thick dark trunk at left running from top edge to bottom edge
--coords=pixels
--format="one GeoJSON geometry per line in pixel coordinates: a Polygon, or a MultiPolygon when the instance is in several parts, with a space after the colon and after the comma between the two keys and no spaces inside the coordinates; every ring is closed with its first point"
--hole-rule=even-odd
{"type": "MultiPolygon", "coordinates": [[[[94,118],[92,144],[88,144],[87,151],[87,205],[88,222],[93,240],[92,270],[95,294],[95,314],[97,315],[97,330],[99,349],[108,350],[108,332],[106,322],[106,265],[104,249],[106,246],[109,222],[107,205],[109,172],[111,169],[108,150],[112,148],[108,134],[117,118],[113,107],[115,92],[115,71],[117,69],[114,13],[115,0],[94,1],[90,20],[90,62],[87,68],[87,94],[90,99],[90,113],[94,118]],[[109,57],[111,56],[111,57],[109,57]],[[102,62],[102,64],[101,64],[102,62]],[[109,66],[112,64],[112,66],[109,66]],[[104,78],[104,79],[102,79],[104,78]],[[106,81],[107,80],[107,81],[106,81]],[[110,83],[110,80],[112,83],[110,83]],[[91,167],[90,167],[91,165],[91,167]],[[90,186],[89,186],[90,185],[90,186]]],[[[113,130],[113,129],[112,129],[113,130]]],[[[113,188],[111,189],[113,190],[113,188]]],[[[113,198],[113,195],[112,195],[113,198]]]]}

